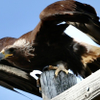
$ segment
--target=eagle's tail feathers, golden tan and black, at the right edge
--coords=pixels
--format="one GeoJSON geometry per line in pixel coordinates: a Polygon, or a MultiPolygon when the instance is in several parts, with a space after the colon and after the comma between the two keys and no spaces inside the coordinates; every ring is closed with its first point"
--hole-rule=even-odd
{"type": "Polygon", "coordinates": [[[88,72],[90,70],[90,73],[92,73],[100,69],[100,47],[75,42],[73,50],[77,55],[81,55],[81,62],[88,72]]]}

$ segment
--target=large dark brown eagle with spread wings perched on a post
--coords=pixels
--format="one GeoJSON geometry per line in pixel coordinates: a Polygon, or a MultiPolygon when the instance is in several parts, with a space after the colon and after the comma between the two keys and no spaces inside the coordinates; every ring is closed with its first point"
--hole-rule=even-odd
{"type": "MultiPolygon", "coordinates": [[[[6,41],[1,39],[0,64],[11,65],[12,71],[9,74],[17,82],[8,80],[8,77],[0,77],[0,80],[10,85],[11,89],[16,87],[40,96],[34,78],[29,75],[33,70],[42,71],[45,66],[63,64],[65,72],[71,69],[74,74],[80,74],[84,78],[98,70],[100,47],[77,42],[68,36],[64,30],[69,25],[75,26],[100,44],[99,17],[92,6],[74,0],[55,2],[40,13],[40,22],[33,31],[18,39],[11,38],[6,41]],[[25,72],[28,78],[15,75],[13,68],[25,72]],[[27,81],[26,84],[24,84],[25,81],[27,81]],[[17,85],[18,82],[24,85],[20,83],[17,85]]],[[[2,68],[1,72],[8,73],[2,68]]]]}

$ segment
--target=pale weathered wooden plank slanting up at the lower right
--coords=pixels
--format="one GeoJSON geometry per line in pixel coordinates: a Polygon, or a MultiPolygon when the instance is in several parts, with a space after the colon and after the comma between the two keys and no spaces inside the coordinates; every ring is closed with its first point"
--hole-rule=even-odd
{"type": "Polygon", "coordinates": [[[100,70],[51,100],[100,100],[100,70]]]}

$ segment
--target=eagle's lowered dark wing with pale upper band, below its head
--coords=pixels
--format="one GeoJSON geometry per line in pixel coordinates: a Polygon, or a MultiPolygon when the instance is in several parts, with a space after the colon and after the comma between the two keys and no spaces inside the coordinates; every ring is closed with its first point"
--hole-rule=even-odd
{"type": "Polygon", "coordinates": [[[18,68],[0,64],[0,85],[16,92],[15,88],[40,96],[36,80],[18,68]]]}

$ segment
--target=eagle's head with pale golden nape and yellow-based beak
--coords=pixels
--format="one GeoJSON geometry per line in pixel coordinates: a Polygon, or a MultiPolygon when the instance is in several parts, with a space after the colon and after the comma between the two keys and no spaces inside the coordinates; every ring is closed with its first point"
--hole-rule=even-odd
{"type": "Polygon", "coordinates": [[[8,45],[1,50],[0,60],[6,60],[14,66],[29,70],[33,67],[29,64],[33,63],[31,59],[35,57],[34,51],[35,48],[30,42],[18,40],[13,45],[8,45]]]}

